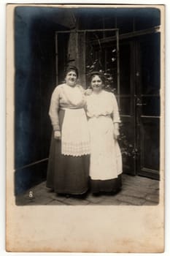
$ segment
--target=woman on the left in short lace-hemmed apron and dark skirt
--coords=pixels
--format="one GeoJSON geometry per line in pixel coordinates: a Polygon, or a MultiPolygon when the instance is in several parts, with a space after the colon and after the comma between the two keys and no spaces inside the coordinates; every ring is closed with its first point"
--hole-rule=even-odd
{"type": "Polygon", "coordinates": [[[78,70],[68,67],[66,83],[58,85],[50,102],[53,135],[47,187],[58,194],[88,191],[90,140],[85,115],[85,91],[77,84],[78,70]]]}

